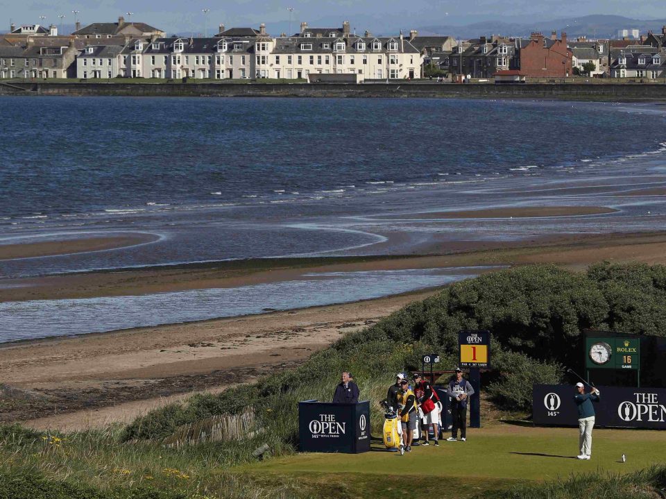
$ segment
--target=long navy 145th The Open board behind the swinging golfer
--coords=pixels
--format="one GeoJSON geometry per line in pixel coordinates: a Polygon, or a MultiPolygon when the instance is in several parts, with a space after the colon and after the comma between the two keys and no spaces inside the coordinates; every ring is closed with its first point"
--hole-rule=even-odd
{"type": "MultiPolygon", "coordinates": [[[[666,430],[666,389],[599,387],[595,426],[666,430]]],[[[586,389],[586,393],[588,389],[586,389]]],[[[532,417],[537,425],[578,426],[575,387],[568,384],[535,384],[532,417]]]]}

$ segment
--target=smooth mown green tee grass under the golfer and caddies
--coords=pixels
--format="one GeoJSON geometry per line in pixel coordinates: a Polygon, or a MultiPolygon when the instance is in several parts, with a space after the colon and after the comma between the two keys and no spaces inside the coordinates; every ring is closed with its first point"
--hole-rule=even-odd
{"type": "MultiPolygon", "coordinates": [[[[468,430],[468,441],[414,447],[400,456],[381,442],[359,455],[298,454],[238,466],[233,471],[266,480],[299,480],[322,498],[397,498],[404,484],[425,483],[443,498],[472,497],[521,482],[565,479],[578,473],[630,473],[666,462],[666,434],[650,430],[597,429],[592,459],[579,461],[577,428],[512,424],[468,430]],[[622,463],[622,454],[626,463],[622,463]],[[409,475],[409,480],[404,480],[409,475]],[[429,478],[428,478],[429,477],[429,478]],[[456,485],[459,484],[459,485],[456,485]]],[[[411,487],[411,486],[410,486],[411,487]]]]}

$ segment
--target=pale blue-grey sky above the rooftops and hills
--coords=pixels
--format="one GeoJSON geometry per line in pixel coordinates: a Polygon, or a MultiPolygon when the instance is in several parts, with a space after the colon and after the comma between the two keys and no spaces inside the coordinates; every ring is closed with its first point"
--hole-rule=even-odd
{"type": "Polygon", "coordinates": [[[666,18],[664,0],[0,0],[0,31],[15,24],[74,24],[72,10],[85,25],[126,20],[146,22],[168,33],[216,32],[219,24],[253,26],[266,23],[268,33],[299,31],[309,26],[339,26],[349,20],[352,30],[395,31],[419,26],[461,25],[489,19],[530,22],[590,14],[622,15],[633,19],[666,18]],[[557,8],[554,8],[556,6],[557,8]],[[205,15],[203,9],[210,8],[205,15]],[[126,12],[133,12],[128,16],[126,12]],[[46,16],[46,19],[40,19],[46,16]]]}

